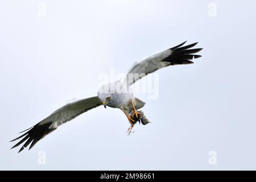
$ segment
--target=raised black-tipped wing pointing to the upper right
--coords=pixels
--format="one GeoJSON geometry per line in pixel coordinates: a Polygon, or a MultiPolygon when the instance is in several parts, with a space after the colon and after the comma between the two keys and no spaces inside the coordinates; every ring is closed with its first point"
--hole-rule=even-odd
{"type": "Polygon", "coordinates": [[[196,46],[197,43],[181,47],[185,43],[186,42],[167,49],[166,51],[156,53],[155,55],[147,57],[141,62],[135,64],[133,68],[130,69],[124,81],[130,86],[142,77],[147,76],[158,69],[168,67],[170,65],[192,64],[193,62],[191,60],[201,57],[200,55],[195,55],[195,53],[201,51],[202,48],[189,49],[196,46]]]}

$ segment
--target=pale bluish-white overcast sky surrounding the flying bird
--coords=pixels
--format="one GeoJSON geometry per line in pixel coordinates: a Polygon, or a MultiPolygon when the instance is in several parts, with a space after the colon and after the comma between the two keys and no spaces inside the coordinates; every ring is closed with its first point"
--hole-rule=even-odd
{"type": "Polygon", "coordinates": [[[252,0],[1,1],[0,169],[256,169],[255,7],[252,0]],[[10,150],[19,131],[96,94],[99,75],[126,73],[185,40],[199,42],[203,57],[158,71],[157,99],[136,94],[152,123],[135,125],[130,137],[122,111],[102,106],[30,151],[10,150]]]}

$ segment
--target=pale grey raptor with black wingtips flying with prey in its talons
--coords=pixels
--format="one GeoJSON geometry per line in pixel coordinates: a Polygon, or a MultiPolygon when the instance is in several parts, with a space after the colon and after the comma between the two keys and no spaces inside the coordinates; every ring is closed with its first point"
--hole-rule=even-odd
{"type": "Polygon", "coordinates": [[[82,113],[93,109],[95,107],[104,105],[113,108],[118,108],[125,113],[130,127],[128,133],[131,133],[134,124],[143,117],[143,113],[139,112],[145,102],[134,97],[130,88],[134,82],[140,80],[142,77],[157,71],[158,69],[168,67],[170,65],[192,64],[193,59],[201,57],[195,53],[201,51],[202,48],[193,48],[197,43],[183,46],[186,42],[178,46],[167,49],[163,52],[156,53],[153,56],[135,64],[122,80],[103,85],[98,91],[97,96],[81,98],[76,101],[69,102],[60,109],[54,111],[47,118],[43,119],[35,126],[22,131],[22,135],[11,142],[21,139],[12,148],[24,143],[19,152],[26,148],[29,144],[29,150],[43,137],[56,130],[57,127],[65,122],[71,121],[82,113]]]}

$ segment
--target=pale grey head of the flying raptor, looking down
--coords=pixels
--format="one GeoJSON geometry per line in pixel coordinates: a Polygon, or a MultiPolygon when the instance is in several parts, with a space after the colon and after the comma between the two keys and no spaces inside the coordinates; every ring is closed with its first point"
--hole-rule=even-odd
{"type": "Polygon", "coordinates": [[[109,104],[111,104],[113,100],[112,93],[110,92],[109,84],[103,85],[100,90],[98,91],[98,98],[106,108],[109,104]]]}

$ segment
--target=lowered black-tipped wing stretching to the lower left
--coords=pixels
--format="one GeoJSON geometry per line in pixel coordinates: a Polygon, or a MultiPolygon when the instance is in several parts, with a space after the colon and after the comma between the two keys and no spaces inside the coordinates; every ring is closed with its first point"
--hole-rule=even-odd
{"type": "MultiPolygon", "coordinates": [[[[83,98],[77,101],[70,102],[61,107],[60,109],[56,110],[54,113],[43,119],[41,122],[37,123],[35,126],[25,130],[26,133],[24,133],[20,137],[11,140],[11,142],[13,142],[17,139],[22,138],[22,140],[20,140],[12,148],[17,147],[25,142],[22,148],[20,148],[19,150],[19,152],[21,152],[32,142],[29,148],[31,149],[36,144],[36,142],[38,142],[47,134],[51,133],[53,130],[56,130],[58,126],[62,125],[67,121],[71,121],[71,119],[76,118],[80,114],[85,113],[86,111],[100,105],[102,104],[101,101],[98,100],[98,97],[83,98]]],[[[21,133],[25,131],[22,131],[21,133]]]]}

